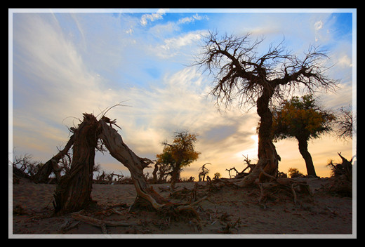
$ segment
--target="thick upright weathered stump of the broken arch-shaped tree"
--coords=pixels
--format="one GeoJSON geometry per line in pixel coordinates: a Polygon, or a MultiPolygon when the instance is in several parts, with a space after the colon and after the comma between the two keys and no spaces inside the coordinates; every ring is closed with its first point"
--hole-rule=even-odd
{"type": "Polygon", "coordinates": [[[58,215],[79,211],[91,203],[97,130],[95,116],[84,114],[84,121],[74,133],[70,171],[61,178],[55,189],[53,206],[58,215]]]}

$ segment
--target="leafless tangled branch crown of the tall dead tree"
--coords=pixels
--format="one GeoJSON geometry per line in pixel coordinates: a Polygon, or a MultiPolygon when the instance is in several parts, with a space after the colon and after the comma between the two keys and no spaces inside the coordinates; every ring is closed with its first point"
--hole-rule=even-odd
{"type": "Polygon", "coordinates": [[[253,103],[263,88],[274,91],[274,99],[291,94],[304,86],[310,93],[318,89],[334,91],[337,81],[324,74],[326,51],[310,46],[303,58],[284,49],[284,40],[277,46],[270,44],[267,53],[256,51],[261,40],[251,41],[250,34],[218,37],[215,32],[206,36],[206,45],[195,65],[213,74],[215,81],[211,95],[218,107],[228,107],[238,100],[239,107],[253,103]]]}

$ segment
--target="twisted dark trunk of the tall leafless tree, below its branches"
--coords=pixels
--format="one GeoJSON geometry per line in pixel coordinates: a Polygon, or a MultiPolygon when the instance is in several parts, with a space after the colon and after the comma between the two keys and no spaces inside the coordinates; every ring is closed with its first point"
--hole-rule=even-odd
{"type": "Polygon", "coordinates": [[[277,150],[272,143],[272,113],[269,108],[270,98],[273,93],[273,88],[266,87],[263,89],[263,94],[257,100],[257,112],[261,118],[258,131],[258,163],[253,168],[253,171],[237,184],[241,187],[252,185],[256,179],[259,182],[270,180],[269,177],[261,172],[261,169],[265,173],[275,178],[277,177],[280,156],[277,154],[277,150]]]}

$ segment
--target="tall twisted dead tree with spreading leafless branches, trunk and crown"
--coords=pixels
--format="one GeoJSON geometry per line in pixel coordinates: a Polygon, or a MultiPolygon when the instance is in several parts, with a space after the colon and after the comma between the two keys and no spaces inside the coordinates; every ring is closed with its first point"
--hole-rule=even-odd
{"type": "Polygon", "coordinates": [[[280,156],[272,143],[272,100],[285,98],[300,88],[310,93],[317,89],[334,90],[336,81],[328,79],[324,51],[310,46],[303,56],[285,51],[283,42],[270,45],[260,54],[258,46],[263,39],[251,40],[250,35],[219,37],[209,32],[204,39],[202,52],[194,65],[207,69],[214,76],[211,95],[218,107],[238,101],[239,107],[253,103],[260,116],[258,129],[258,163],[239,186],[251,185],[277,175],[280,156]]]}

